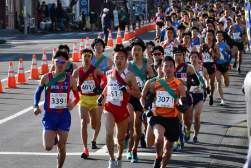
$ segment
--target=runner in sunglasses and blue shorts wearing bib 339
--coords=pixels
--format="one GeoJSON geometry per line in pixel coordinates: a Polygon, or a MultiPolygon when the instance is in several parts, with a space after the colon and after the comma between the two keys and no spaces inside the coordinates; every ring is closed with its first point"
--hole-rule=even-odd
{"type": "Polygon", "coordinates": [[[70,111],[79,101],[77,81],[65,73],[69,56],[66,52],[58,51],[54,56],[56,63],[55,71],[45,74],[34,96],[34,114],[38,115],[41,110],[38,103],[41,93],[45,88],[45,103],[43,123],[43,145],[45,150],[50,151],[54,146],[55,133],[59,136],[57,167],[62,168],[66,158],[66,142],[71,126],[70,111]],[[69,103],[70,91],[73,91],[74,101],[69,103]]]}

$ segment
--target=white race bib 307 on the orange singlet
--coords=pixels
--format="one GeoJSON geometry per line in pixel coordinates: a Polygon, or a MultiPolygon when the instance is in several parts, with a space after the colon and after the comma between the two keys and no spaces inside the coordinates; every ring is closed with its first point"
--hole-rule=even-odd
{"type": "Polygon", "coordinates": [[[166,91],[157,91],[156,106],[174,108],[174,99],[166,91]]]}

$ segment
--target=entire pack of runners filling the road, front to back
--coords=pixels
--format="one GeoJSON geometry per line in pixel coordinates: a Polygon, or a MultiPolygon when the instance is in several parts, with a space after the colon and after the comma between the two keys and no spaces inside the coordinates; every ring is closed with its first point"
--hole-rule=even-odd
{"type": "Polygon", "coordinates": [[[69,47],[59,46],[55,64],[42,77],[34,96],[34,114],[38,115],[45,88],[43,144],[51,150],[58,141],[58,167],[66,157],[69,111],[76,105],[84,159],[89,157],[88,124],[93,129],[91,148],[96,149],[104,113],[108,168],[122,167],[124,149],[127,159],[137,163],[139,143],[142,148],[155,145],[153,167],[166,167],[172,151],[190,140],[193,120],[193,143],[198,143],[203,102],[209,95],[209,105],[214,104],[215,79],[219,105],[226,105],[221,78],[228,87],[231,60],[241,73],[242,54],[249,50],[243,4],[238,0],[186,4],[173,0],[169,5],[165,0],[155,18],[154,41],[159,44],[134,37],[129,46],[115,44],[111,59],[103,55],[104,41],[95,39],[92,49],[82,50],[80,67],[68,62],[69,47]]]}

